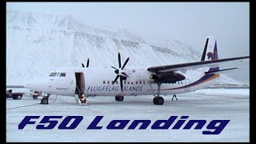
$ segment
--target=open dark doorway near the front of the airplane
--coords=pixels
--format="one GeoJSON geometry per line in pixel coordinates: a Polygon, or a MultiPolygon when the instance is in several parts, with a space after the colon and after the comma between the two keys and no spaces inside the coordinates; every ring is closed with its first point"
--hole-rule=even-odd
{"type": "Polygon", "coordinates": [[[75,94],[84,94],[86,82],[85,75],[82,72],[76,72],[75,75],[75,94]]]}

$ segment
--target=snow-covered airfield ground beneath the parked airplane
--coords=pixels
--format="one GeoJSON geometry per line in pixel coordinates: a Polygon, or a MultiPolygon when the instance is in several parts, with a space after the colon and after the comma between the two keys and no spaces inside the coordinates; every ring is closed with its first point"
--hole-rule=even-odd
{"type": "MultiPolygon", "coordinates": [[[[18,91],[18,90],[17,90],[18,91]]],[[[25,91],[19,89],[19,91],[25,91]]],[[[125,97],[116,102],[114,97],[89,98],[89,106],[79,106],[73,97],[50,98],[49,105],[34,105],[40,102],[25,95],[22,100],[6,99],[6,142],[249,142],[249,99],[250,89],[204,89],[194,93],[179,94],[178,101],[163,96],[162,106],[153,104],[153,96],[125,97]],[[10,109],[18,106],[17,109],[10,109]],[[34,125],[18,130],[18,124],[25,116],[41,116],[34,125]],[[74,130],[58,130],[62,119],[52,130],[37,130],[42,116],[82,116],[82,122],[74,130]],[[104,116],[98,126],[102,130],[86,130],[96,116],[104,116]],[[188,120],[206,120],[202,130],[152,130],[156,120],[167,120],[170,116],[189,116],[188,120]],[[124,130],[107,130],[112,120],[131,120],[124,130]],[[146,130],[127,130],[135,119],[151,120],[146,130]],[[220,134],[202,134],[212,120],[230,120],[220,134]]],[[[26,92],[28,94],[28,91],[26,92]]]]}

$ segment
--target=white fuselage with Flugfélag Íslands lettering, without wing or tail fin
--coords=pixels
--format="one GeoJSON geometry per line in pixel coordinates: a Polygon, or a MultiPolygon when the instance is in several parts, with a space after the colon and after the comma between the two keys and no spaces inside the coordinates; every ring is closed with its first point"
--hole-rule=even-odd
{"type": "MultiPolygon", "coordinates": [[[[176,83],[163,83],[160,94],[182,94],[190,91],[205,88],[219,82],[219,74],[213,74],[206,77],[205,71],[209,68],[198,68],[196,70],[187,70],[183,81],[176,83]]],[[[124,69],[130,76],[123,82],[123,95],[155,95],[158,85],[150,79],[150,71],[146,68],[127,68],[124,69]]],[[[95,68],[69,68],[56,70],[56,72],[66,73],[66,77],[47,77],[42,81],[32,82],[26,87],[31,90],[42,91],[47,94],[57,94],[65,96],[74,96],[76,90],[75,73],[80,73],[82,77],[82,89],[86,96],[116,96],[121,94],[120,81],[112,85],[116,77],[113,69],[95,69],[95,68]]]]}

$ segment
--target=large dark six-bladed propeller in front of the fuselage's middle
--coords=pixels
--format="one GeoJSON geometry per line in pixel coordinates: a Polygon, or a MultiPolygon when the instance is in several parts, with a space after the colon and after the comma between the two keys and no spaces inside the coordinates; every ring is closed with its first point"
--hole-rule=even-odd
{"type": "Polygon", "coordinates": [[[121,85],[121,91],[122,91],[122,87],[123,87],[122,81],[126,80],[126,78],[129,77],[128,74],[126,74],[124,71],[122,71],[125,68],[128,61],[129,61],[129,57],[126,58],[126,62],[122,65],[121,64],[121,54],[118,52],[118,66],[119,66],[119,68],[117,69],[114,66],[111,66],[114,69],[114,73],[117,74],[117,76],[114,78],[114,81],[112,82],[112,85],[114,84],[114,82],[117,82],[117,80],[119,78],[120,79],[120,85],[121,85]]]}

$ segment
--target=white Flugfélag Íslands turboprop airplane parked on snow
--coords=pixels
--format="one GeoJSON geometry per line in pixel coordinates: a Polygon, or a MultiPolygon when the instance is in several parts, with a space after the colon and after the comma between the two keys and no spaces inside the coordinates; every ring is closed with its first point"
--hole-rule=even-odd
{"type": "MultiPolygon", "coordinates": [[[[189,93],[206,88],[220,81],[220,75],[238,67],[220,69],[223,63],[242,62],[250,56],[218,59],[217,40],[213,36],[206,38],[201,61],[186,62],[166,66],[127,67],[129,57],[122,65],[118,53],[118,68],[90,68],[88,58],[86,66],[59,68],[49,77],[36,79],[24,84],[27,89],[47,94],[42,104],[48,104],[50,94],[72,96],[79,104],[82,98],[90,96],[115,96],[116,101],[123,101],[124,96],[153,95],[154,105],[162,105],[162,95],[189,93]],[[82,95],[82,97],[81,97],[82,95]]],[[[87,102],[87,100],[86,100],[87,102]]]]}

